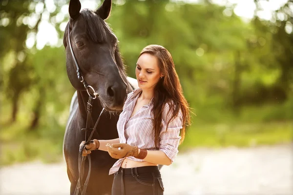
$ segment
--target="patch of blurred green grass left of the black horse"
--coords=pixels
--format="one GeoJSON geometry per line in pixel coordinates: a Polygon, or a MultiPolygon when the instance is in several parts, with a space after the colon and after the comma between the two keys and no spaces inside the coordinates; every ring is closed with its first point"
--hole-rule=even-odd
{"type": "MultiPolygon", "coordinates": [[[[40,129],[38,130],[40,132],[40,129]]],[[[49,129],[47,130],[49,131],[49,129]]],[[[1,131],[0,140],[0,165],[35,159],[40,159],[45,163],[57,162],[62,157],[63,135],[60,138],[52,139],[52,137],[42,137],[35,132],[27,132],[27,128],[21,125],[12,125],[1,131]]]]}

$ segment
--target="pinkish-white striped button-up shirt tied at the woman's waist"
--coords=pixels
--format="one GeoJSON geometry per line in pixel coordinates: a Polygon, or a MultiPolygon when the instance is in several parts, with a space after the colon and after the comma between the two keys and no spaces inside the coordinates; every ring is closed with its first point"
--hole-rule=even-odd
{"type": "MultiPolygon", "coordinates": [[[[131,146],[138,146],[141,149],[146,150],[158,150],[154,142],[153,123],[152,123],[152,104],[146,104],[140,108],[132,117],[134,106],[139,95],[142,93],[142,89],[135,89],[133,92],[127,95],[127,99],[124,104],[123,112],[120,114],[117,122],[117,130],[120,139],[120,143],[127,143],[131,146]]],[[[170,121],[167,127],[167,121],[171,116],[168,116],[169,104],[165,105],[162,114],[162,130],[160,132],[160,147],[159,150],[163,151],[166,156],[174,161],[178,153],[178,145],[181,139],[180,129],[182,129],[182,113],[181,111],[170,121]]],[[[134,161],[145,161],[143,159],[135,158],[134,156],[126,157],[134,161]]],[[[122,162],[125,158],[120,158],[112,166],[109,171],[109,175],[114,174],[119,170],[122,162]]]]}

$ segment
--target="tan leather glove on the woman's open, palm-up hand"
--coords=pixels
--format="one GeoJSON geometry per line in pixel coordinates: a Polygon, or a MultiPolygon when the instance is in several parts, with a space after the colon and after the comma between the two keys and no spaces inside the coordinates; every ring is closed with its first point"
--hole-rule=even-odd
{"type": "Polygon", "coordinates": [[[110,146],[110,144],[107,144],[106,147],[108,148],[108,153],[112,158],[119,159],[128,156],[136,157],[138,155],[138,147],[130,146],[126,143],[115,143],[112,144],[112,146],[110,146]]]}

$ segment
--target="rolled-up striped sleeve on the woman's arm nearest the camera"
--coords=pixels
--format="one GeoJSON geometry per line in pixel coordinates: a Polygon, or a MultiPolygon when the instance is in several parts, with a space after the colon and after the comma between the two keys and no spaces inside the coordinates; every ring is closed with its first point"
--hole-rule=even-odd
{"type": "Polygon", "coordinates": [[[181,111],[179,111],[178,115],[173,118],[167,125],[167,122],[171,118],[171,114],[168,114],[169,106],[170,105],[168,104],[166,105],[162,115],[163,128],[160,132],[159,150],[163,151],[172,163],[178,154],[178,146],[181,139],[180,129],[182,129],[183,123],[182,113],[181,111]]]}

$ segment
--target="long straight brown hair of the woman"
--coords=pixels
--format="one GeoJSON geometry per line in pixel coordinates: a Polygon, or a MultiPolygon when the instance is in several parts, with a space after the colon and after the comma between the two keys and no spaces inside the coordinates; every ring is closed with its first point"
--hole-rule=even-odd
{"type": "Polygon", "coordinates": [[[179,111],[182,112],[182,130],[181,140],[183,142],[185,137],[186,126],[190,124],[190,108],[186,98],[183,96],[183,90],[179,81],[179,77],[175,70],[174,61],[171,54],[166,48],[161,45],[148,45],[140,53],[141,56],[144,53],[148,53],[157,57],[158,65],[161,73],[164,77],[161,78],[154,88],[153,97],[153,126],[155,134],[155,145],[159,148],[160,145],[160,131],[162,129],[162,115],[166,103],[169,104],[168,116],[171,116],[168,123],[177,117],[179,111]]]}

